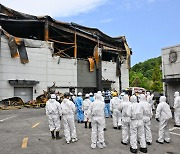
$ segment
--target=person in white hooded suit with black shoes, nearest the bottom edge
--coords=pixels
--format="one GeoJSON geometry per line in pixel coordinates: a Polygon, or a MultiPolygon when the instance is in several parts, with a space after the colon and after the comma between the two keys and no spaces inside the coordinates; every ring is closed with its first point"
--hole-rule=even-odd
{"type": "Polygon", "coordinates": [[[130,117],[130,150],[137,150],[137,138],[140,142],[140,151],[147,152],[146,142],[145,142],[145,134],[144,134],[144,123],[143,123],[143,115],[144,110],[143,107],[137,102],[136,96],[131,96],[130,98],[131,105],[128,108],[127,115],[130,117]]]}

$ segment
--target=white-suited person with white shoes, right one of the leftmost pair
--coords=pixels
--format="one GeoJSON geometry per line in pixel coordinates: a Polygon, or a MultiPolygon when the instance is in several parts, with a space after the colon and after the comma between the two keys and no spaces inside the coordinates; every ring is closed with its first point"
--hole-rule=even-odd
{"type": "Polygon", "coordinates": [[[67,144],[69,144],[70,141],[76,142],[78,140],[74,122],[74,113],[76,109],[74,103],[69,100],[69,96],[70,94],[68,92],[64,93],[64,99],[61,103],[64,136],[67,144]]]}

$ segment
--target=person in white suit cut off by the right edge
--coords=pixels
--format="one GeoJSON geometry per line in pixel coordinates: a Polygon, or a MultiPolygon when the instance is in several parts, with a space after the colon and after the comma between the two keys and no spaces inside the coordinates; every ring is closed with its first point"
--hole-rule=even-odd
{"type": "Polygon", "coordinates": [[[174,93],[174,97],[174,126],[180,127],[180,96],[178,91],[174,93]]]}

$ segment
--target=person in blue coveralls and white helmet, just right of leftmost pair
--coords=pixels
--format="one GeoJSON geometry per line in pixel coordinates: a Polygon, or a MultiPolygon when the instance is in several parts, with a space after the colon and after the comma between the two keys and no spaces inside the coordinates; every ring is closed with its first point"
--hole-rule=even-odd
{"type": "Polygon", "coordinates": [[[83,103],[83,99],[82,99],[82,93],[79,92],[77,98],[75,99],[75,105],[77,108],[77,120],[78,123],[83,123],[84,121],[84,114],[82,111],[82,103],[83,103]]]}

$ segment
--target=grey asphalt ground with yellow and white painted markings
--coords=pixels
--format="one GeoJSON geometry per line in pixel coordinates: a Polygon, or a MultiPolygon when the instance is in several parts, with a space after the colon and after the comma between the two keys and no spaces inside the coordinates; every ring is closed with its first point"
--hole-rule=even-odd
{"type": "MultiPolygon", "coordinates": [[[[170,144],[159,145],[158,126],[152,120],[153,144],[149,154],[180,154],[180,129],[170,122],[170,144]]],[[[129,145],[120,143],[121,131],[112,128],[112,119],[106,119],[105,149],[90,148],[90,129],[76,123],[79,141],[67,145],[65,139],[51,140],[44,108],[0,111],[0,154],[129,154],[129,145]],[[24,143],[24,144],[23,144],[24,143]],[[26,146],[27,143],[27,146],[26,146]]],[[[63,136],[63,129],[60,132],[63,136]]],[[[140,152],[139,152],[140,153],[140,152]]]]}

